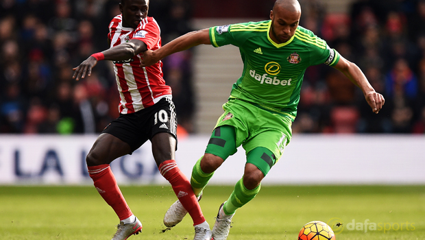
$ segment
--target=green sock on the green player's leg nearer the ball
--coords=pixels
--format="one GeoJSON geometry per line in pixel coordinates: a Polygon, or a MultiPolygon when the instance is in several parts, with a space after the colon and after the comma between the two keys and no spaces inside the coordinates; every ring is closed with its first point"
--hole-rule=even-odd
{"type": "Polygon", "coordinates": [[[255,189],[249,190],[243,185],[243,178],[241,178],[241,180],[234,185],[232,194],[230,194],[228,201],[223,206],[224,213],[226,213],[226,215],[232,215],[238,208],[241,208],[241,206],[253,200],[260,191],[260,185],[255,189]]]}

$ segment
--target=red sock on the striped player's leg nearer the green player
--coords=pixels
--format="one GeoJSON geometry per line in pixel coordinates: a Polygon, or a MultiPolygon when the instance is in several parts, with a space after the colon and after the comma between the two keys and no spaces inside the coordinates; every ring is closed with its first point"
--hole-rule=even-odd
{"type": "Polygon", "coordinates": [[[193,193],[191,182],[184,176],[177,167],[175,160],[167,160],[158,167],[162,176],[167,179],[173,187],[175,195],[189,212],[193,219],[193,225],[202,224],[205,221],[201,207],[197,202],[195,193],[193,193]]]}

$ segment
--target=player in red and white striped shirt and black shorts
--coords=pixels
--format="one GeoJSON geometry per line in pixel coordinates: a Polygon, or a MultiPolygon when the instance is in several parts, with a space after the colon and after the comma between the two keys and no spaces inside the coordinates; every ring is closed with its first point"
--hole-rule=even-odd
{"type": "Polygon", "coordinates": [[[160,27],[147,16],[149,0],[121,0],[122,14],[109,25],[110,49],[84,60],[75,67],[73,78],[90,76],[100,60],[110,60],[120,95],[120,116],[101,132],[88,152],[88,173],[97,191],[117,213],[120,224],[112,240],[124,240],[142,230],[141,221],[133,215],[125,202],[110,163],[125,154],[132,154],[147,140],[158,169],[189,212],[195,226],[194,239],[209,240],[211,231],[189,180],[175,163],[177,148],[177,118],[171,98],[171,88],[162,78],[162,62],[140,67],[143,52],[161,47],[160,27]]]}

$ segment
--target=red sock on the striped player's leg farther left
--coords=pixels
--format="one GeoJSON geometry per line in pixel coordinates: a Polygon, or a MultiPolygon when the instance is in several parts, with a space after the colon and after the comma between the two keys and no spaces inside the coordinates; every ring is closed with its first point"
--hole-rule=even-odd
{"type": "Polygon", "coordinates": [[[88,174],[93,179],[97,191],[114,209],[120,220],[133,215],[108,164],[88,167],[88,174]]]}

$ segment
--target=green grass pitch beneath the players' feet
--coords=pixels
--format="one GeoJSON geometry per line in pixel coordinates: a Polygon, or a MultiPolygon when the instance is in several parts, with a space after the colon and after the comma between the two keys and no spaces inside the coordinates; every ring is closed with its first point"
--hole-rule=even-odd
{"type": "MultiPolygon", "coordinates": [[[[204,190],[199,203],[211,228],[232,189],[204,190]]],[[[162,217],[177,199],[171,187],[121,191],[143,224],[143,232],[129,240],[193,239],[189,215],[162,232],[162,217]]],[[[331,225],[337,239],[425,239],[425,186],[263,186],[234,215],[228,240],[295,240],[313,220],[331,225]]],[[[118,223],[94,187],[0,187],[0,239],[109,240],[118,223]]]]}

